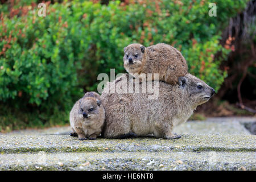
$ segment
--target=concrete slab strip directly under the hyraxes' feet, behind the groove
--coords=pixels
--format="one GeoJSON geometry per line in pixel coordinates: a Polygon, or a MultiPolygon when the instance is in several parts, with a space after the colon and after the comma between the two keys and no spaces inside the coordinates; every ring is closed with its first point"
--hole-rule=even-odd
{"type": "Polygon", "coordinates": [[[180,139],[83,140],[59,135],[0,136],[0,152],[256,151],[255,135],[182,135],[180,139]]]}

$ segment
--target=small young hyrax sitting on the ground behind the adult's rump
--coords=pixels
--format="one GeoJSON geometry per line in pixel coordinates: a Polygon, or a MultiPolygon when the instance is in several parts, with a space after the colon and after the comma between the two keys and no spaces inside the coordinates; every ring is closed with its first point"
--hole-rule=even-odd
{"type": "Polygon", "coordinates": [[[101,134],[105,121],[105,110],[96,92],[87,92],[76,102],[70,114],[69,121],[72,137],[79,140],[96,139],[101,134]]]}

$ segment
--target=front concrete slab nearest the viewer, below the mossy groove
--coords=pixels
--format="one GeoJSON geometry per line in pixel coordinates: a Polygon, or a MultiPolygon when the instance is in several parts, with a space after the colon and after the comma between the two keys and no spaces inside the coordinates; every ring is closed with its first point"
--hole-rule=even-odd
{"type": "Polygon", "coordinates": [[[255,170],[255,152],[2,154],[0,170],[255,170]]]}

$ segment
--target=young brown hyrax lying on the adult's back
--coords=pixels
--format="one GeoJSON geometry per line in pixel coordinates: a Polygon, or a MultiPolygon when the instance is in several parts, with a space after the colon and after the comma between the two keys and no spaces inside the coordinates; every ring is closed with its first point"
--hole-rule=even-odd
{"type": "MultiPolygon", "coordinates": [[[[130,44],[123,49],[123,65],[128,73],[153,73],[159,74],[159,80],[175,85],[178,77],[188,73],[187,62],[176,48],[160,43],[150,47],[141,44],[130,44]]],[[[143,79],[144,80],[144,79],[143,79]]]]}

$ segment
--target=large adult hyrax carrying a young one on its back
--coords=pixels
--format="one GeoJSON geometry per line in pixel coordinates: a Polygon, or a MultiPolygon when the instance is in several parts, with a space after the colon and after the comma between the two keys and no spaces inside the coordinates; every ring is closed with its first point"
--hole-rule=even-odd
{"type": "Polygon", "coordinates": [[[149,100],[148,93],[110,93],[109,89],[115,87],[117,82],[134,81],[126,79],[125,75],[128,74],[108,82],[101,94],[106,114],[105,138],[148,134],[158,138],[180,138],[180,135],[172,133],[172,129],[187,121],[193,110],[214,94],[213,88],[189,73],[179,77],[176,85],[159,81],[159,96],[156,100],[149,100]]]}

